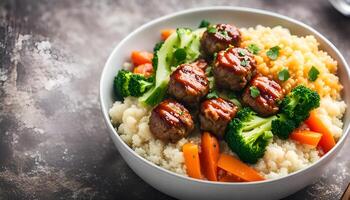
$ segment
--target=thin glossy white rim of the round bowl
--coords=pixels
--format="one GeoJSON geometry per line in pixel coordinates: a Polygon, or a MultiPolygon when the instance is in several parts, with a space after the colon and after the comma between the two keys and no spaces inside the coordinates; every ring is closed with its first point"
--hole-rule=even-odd
{"type": "MultiPolygon", "coordinates": [[[[256,9],[256,8],[248,8],[248,7],[239,7],[239,6],[205,6],[205,7],[199,7],[199,8],[191,8],[191,9],[186,9],[183,11],[178,11],[178,12],[174,12],[156,19],[151,20],[148,23],[145,23],[143,25],[141,25],[140,27],[136,28],[135,30],[133,30],[131,33],[129,33],[126,37],[124,37],[113,49],[113,51],[110,53],[104,67],[101,73],[101,78],[100,78],[100,87],[99,87],[99,100],[100,100],[100,106],[101,106],[101,110],[102,110],[102,114],[104,117],[104,120],[106,122],[106,125],[108,127],[108,129],[112,130],[112,133],[114,134],[114,137],[116,137],[119,142],[122,144],[123,148],[126,148],[126,150],[131,153],[133,156],[136,157],[136,159],[141,160],[142,162],[145,162],[147,165],[150,165],[151,167],[155,167],[156,169],[165,172],[168,175],[173,176],[174,178],[177,179],[183,179],[185,181],[193,181],[196,182],[198,184],[213,184],[213,185],[221,185],[221,186],[228,186],[228,185],[232,185],[232,186],[243,186],[243,185],[261,185],[261,184],[267,184],[267,183],[273,183],[273,182],[278,182],[278,181],[282,181],[284,179],[288,179],[290,177],[293,176],[297,176],[298,174],[302,174],[302,173],[306,173],[309,170],[312,170],[316,165],[320,165],[321,163],[323,163],[326,159],[330,158],[330,156],[332,154],[334,154],[335,151],[340,150],[340,146],[343,145],[343,143],[345,142],[345,140],[347,139],[348,133],[349,133],[349,123],[348,124],[343,124],[343,134],[341,136],[341,138],[337,141],[335,147],[333,147],[329,152],[327,152],[326,155],[322,156],[319,160],[317,160],[316,162],[312,163],[311,165],[297,170],[295,172],[292,172],[290,174],[287,174],[285,176],[282,177],[278,177],[278,178],[273,178],[273,179],[266,179],[263,181],[255,181],[255,182],[214,182],[214,181],[209,181],[209,180],[201,180],[201,179],[195,179],[195,178],[191,178],[188,176],[184,176],[181,174],[177,174],[175,172],[172,172],[168,169],[165,169],[163,167],[160,167],[156,164],[154,164],[153,162],[143,158],[142,156],[138,155],[130,146],[128,146],[120,137],[120,135],[117,133],[116,129],[114,128],[114,126],[111,123],[110,117],[109,117],[109,113],[108,110],[109,108],[106,108],[106,105],[104,104],[104,94],[103,94],[103,82],[104,79],[107,76],[107,68],[110,65],[110,63],[112,62],[112,57],[114,54],[116,54],[116,52],[119,50],[120,46],[122,46],[126,41],[129,40],[129,38],[132,38],[136,33],[142,31],[144,28],[151,26],[153,24],[157,24],[159,22],[162,21],[166,21],[168,19],[171,19],[173,17],[176,16],[180,16],[180,15],[185,15],[185,14],[191,14],[191,13],[196,13],[196,12],[207,12],[207,11],[218,11],[218,10],[222,10],[222,11],[232,11],[232,12],[248,12],[248,13],[254,13],[254,14],[261,14],[261,15],[266,15],[266,16],[270,16],[270,17],[274,17],[274,18],[279,18],[282,19],[284,21],[287,21],[289,23],[292,24],[296,24],[300,27],[302,27],[303,29],[307,29],[308,31],[310,31],[312,33],[312,35],[316,35],[317,37],[321,38],[325,44],[327,46],[329,46],[332,51],[334,51],[334,53],[339,57],[338,63],[341,62],[344,64],[344,69],[346,71],[346,74],[348,77],[350,77],[350,69],[349,69],[349,65],[347,64],[345,58],[343,57],[343,55],[340,53],[340,51],[335,47],[335,45],[333,45],[333,43],[331,43],[326,37],[324,37],[321,33],[319,33],[318,31],[316,31],[314,28],[312,28],[309,25],[304,24],[303,22],[300,22],[298,20],[295,20],[293,18],[278,14],[278,13],[274,13],[272,11],[268,11],[268,10],[262,10],[262,9],[256,9]]],[[[258,25],[258,24],[257,24],[258,25]]],[[[111,136],[113,137],[113,136],[111,136]]],[[[112,138],[113,139],[113,138],[112,138]]],[[[130,166],[129,166],[130,167],[130,166]]]]}

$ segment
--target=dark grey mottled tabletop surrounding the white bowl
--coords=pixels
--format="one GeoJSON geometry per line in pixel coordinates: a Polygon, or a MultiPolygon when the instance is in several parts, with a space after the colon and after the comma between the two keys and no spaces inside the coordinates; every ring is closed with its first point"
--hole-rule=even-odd
{"type": "MultiPolygon", "coordinates": [[[[143,182],[102,119],[99,78],[118,42],[187,8],[262,8],[315,27],[350,60],[350,19],[328,1],[0,1],[0,199],[170,199],[143,182]]],[[[339,199],[350,140],[313,185],[287,199],[339,199]]],[[[278,189],[278,188],[276,188],[278,189]]]]}

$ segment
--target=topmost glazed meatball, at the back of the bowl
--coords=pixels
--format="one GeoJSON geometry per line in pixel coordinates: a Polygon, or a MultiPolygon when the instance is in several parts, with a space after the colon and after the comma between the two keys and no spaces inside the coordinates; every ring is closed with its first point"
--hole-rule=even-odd
{"type": "Polygon", "coordinates": [[[203,33],[201,50],[205,56],[212,57],[215,52],[225,50],[230,45],[239,46],[240,41],[241,33],[237,27],[230,24],[217,24],[203,33]]]}

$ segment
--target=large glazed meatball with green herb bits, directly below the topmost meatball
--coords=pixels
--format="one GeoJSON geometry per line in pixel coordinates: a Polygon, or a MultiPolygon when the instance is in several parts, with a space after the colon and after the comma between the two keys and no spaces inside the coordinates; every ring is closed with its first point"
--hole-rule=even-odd
{"type": "Polygon", "coordinates": [[[220,88],[240,91],[255,74],[255,68],[254,57],[246,49],[220,51],[213,67],[215,83],[220,88]]]}

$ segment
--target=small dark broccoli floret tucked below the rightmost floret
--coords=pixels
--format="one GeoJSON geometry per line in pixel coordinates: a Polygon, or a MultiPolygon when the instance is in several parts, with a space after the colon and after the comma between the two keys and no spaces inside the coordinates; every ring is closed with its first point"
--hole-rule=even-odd
{"type": "Polygon", "coordinates": [[[277,135],[281,139],[288,139],[289,134],[293,132],[298,125],[285,114],[277,114],[277,119],[272,121],[271,127],[274,135],[277,135]]]}

